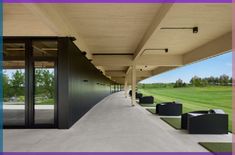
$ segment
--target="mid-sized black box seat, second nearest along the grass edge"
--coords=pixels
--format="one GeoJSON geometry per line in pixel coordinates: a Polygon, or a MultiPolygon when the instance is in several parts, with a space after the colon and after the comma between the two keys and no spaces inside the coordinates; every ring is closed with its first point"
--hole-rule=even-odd
{"type": "Polygon", "coordinates": [[[156,105],[156,114],[161,116],[180,116],[182,104],[176,102],[163,102],[156,105]]]}

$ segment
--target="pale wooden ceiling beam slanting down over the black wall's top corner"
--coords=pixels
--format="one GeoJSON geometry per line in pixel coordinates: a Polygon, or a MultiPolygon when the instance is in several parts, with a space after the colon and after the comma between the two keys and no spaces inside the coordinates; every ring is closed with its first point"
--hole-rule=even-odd
{"type": "Polygon", "coordinates": [[[47,25],[52,31],[59,36],[73,36],[77,40],[74,43],[79,47],[81,51],[87,52],[87,57],[92,58],[89,48],[85,44],[82,37],[79,35],[73,24],[68,20],[66,15],[56,8],[55,5],[43,5],[43,4],[24,4],[24,6],[31,11],[35,16],[41,17],[40,19],[47,25]]]}

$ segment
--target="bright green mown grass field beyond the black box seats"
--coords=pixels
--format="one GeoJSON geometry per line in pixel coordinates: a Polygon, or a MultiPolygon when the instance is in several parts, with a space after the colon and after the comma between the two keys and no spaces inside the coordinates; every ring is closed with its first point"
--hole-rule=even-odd
{"type": "Polygon", "coordinates": [[[183,104],[183,112],[223,109],[229,114],[232,131],[232,87],[141,88],[143,95],[154,96],[155,103],[176,101],[183,104]]]}

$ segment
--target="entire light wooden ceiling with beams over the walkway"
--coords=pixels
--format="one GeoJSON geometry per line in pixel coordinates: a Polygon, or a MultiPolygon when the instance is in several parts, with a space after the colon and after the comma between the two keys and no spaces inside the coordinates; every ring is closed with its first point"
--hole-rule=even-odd
{"type": "Polygon", "coordinates": [[[74,36],[106,76],[130,83],[132,64],[140,81],[232,49],[232,5],[4,4],[3,34],[74,36]]]}

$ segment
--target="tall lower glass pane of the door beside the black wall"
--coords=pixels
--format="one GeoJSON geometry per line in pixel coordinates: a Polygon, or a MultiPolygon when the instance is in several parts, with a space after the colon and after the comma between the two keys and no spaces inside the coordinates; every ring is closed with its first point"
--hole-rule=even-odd
{"type": "Polygon", "coordinates": [[[56,124],[56,62],[34,61],[34,126],[56,124]]]}

